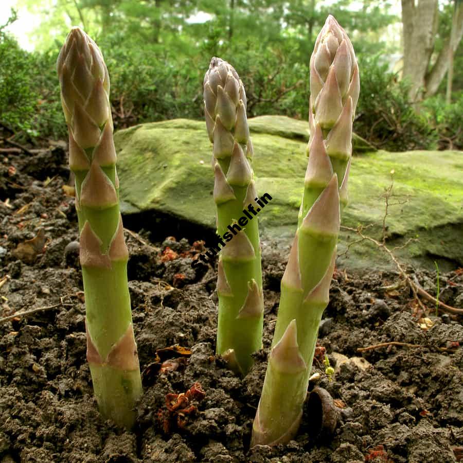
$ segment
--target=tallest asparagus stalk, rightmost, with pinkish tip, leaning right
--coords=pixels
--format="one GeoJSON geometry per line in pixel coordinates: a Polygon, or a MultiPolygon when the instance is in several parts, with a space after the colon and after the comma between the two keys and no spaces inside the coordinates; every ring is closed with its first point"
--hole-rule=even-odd
{"type": "Polygon", "coordinates": [[[340,209],[347,203],[359,88],[352,44],[330,15],[310,59],[309,162],[252,446],[287,443],[302,417],[318,325],[329,300],[340,209]]]}

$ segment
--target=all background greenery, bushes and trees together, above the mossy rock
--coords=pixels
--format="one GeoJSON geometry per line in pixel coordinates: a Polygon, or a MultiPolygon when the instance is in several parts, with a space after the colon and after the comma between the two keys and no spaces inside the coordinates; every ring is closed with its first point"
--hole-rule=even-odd
{"type": "MultiPolygon", "coordinates": [[[[237,69],[246,87],[248,117],[281,114],[307,120],[309,57],[316,31],[331,13],[353,37],[360,57],[362,91],[354,130],[389,150],[436,144],[461,148],[461,97],[452,106],[441,99],[425,101],[417,115],[406,98],[407,84],[381,64],[398,51],[381,41],[385,28],[398,20],[388,13],[390,2],[363,2],[358,11],[351,3],[18,0],[38,14],[34,43],[40,52],[28,54],[1,34],[0,119],[30,136],[65,137],[55,62],[69,26],[80,25],[100,45],[108,64],[116,128],[178,117],[203,119],[202,82],[212,56],[237,69]],[[198,13],[202,19],[194,20],[198,13]]],[[[451,12],[445,0],[442,17],[450,18],[451,12]]],[[[439,37],[448,32],[447,23],[440,23],[439,37]]],[[[455,96],[461,92],[460,58],[457,53],[455,96]]]]}

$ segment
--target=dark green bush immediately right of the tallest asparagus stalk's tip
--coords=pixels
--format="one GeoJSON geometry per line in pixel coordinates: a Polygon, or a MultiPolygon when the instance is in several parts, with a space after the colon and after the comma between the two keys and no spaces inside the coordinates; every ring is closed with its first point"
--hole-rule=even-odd
{"type": "Polygon", "coordinates": [[[378,56],[359,60],[360,100],[354,130],[389,151],[435,149],[437,134],[426,114],[408,101],[408,84],[380,64],[378,56]]]}

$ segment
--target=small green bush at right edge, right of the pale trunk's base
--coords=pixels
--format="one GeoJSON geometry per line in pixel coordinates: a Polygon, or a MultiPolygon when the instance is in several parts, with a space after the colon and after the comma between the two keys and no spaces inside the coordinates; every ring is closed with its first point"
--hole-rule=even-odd
{"type": "Polygon", "coordinates": [[[436,128],[439,149],[463,150],[463,128],[461,127],[463,92],[452,104],[447,104],[439,95],[425,100],[422,106],[436,128]]]}

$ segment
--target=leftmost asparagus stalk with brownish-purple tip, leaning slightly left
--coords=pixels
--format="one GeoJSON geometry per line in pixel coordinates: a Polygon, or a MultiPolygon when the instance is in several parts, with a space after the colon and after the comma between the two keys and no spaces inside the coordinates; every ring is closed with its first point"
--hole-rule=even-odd
{"type": "Polygon", "coordinates": [[[127,283],[129,253],[119,212],[119,181],[109,75],[96,43],[78,27],[61,48],[57,70],[76,179],[87,361],[101,414],[131,428],[141,395],[127,283]]]}

